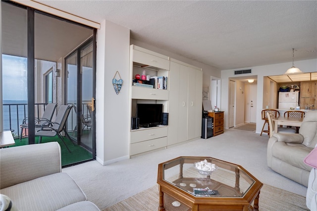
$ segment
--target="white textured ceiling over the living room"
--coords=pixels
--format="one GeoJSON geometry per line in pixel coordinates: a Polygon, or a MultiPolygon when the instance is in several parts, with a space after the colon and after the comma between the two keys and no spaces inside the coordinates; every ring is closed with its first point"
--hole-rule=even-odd
{"type": "MultiPolygon", "coordinates": [[[[317,58],[317,1],[37,0],[218,69],[317,58]]],[[[296,62],[295,62],[296,65],[296,62]]]]}

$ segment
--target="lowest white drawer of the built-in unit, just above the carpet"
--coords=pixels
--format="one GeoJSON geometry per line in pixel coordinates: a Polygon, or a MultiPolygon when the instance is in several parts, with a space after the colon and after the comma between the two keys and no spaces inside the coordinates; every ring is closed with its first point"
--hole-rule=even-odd
{"type": "Polygon", "coordinates": [[[130,145],[130,155],[156,150],[167,146],[167,137],[138,142],[130,145]]]}

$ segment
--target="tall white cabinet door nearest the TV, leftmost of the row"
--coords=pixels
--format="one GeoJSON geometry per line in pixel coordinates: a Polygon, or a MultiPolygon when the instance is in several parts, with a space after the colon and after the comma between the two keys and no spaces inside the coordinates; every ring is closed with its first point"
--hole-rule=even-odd
{"type": "Polygon", "coordinates": [[[167,145],[178,143],[179,72],[180,64],[171,61],[168,79],[170,83],[167,145]]]}

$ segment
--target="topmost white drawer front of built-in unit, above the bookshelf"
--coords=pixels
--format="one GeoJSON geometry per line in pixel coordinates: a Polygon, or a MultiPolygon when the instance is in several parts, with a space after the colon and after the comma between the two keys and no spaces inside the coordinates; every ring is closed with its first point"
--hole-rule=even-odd
{"type": "Polygon", "coordinates": [[[169,70],[169,60],[156,55],[151,55],[149,53],[133,50],[133,61],[149,66],[158,67],[159,69],[169,70]]]}

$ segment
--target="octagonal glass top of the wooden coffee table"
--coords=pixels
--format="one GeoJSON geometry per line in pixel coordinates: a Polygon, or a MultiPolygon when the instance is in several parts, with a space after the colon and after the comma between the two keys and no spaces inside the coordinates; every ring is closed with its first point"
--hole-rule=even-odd
{"type": "Polygon", "coordinates": [[[215,158],[179,157],[161,164],[162,179],[194,197],[242,198],[255,183],[254,177],[243,167],[215,158]],[[200,167],[195,165],[204,160],[204,164],[197,166],[217,166],[210,175],[199,172],[200,167]]]}

